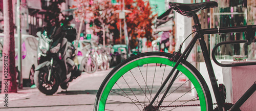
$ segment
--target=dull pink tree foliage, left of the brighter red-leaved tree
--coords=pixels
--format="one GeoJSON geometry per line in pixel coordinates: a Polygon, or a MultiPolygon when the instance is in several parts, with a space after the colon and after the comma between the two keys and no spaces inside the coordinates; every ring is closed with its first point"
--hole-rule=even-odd
{"type": "Polygon", "coordinates": [[[110,0],[74,0],[78,2],[76,6],[71,8],[77,8],[74,11],[76,20],[93,20],[95,30],[100,29],[103,32],[103,46],[105,46],[105,32],[109,29],[110,24],[114,22],[114,7],[110,0]]]}

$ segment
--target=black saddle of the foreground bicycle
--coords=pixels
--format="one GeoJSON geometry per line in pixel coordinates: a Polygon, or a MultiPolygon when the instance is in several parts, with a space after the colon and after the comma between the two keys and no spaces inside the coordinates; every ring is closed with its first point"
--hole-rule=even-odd
{"type": "Polygon", "coordinates": [[[169,6],[181,15],[192,17],[191,12],[197,13],[200,10],[218,7],[217,2],[203,2],[195,4],[169,3],[169,6]]]}

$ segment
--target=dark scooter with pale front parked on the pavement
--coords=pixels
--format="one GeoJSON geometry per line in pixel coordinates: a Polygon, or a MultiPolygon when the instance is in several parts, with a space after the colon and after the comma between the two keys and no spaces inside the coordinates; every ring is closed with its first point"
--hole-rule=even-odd
{"type": "MultiPolygon", "coordinates": [[[[65,20],[72,20],[67,17],[65,20]]],[[[37,32],[39,37],[38,62],[35,69],[34,82],[38,90],[46,95],[54,94],[60,85],[63,90],[69,82],[81,75],[74,62],[75,48],[72,41],[76,39],[76,31],[72,27],[55,27],[48,36],[46,30],[37,32]],[[68,32],[73,34],[67,34],[68,32]],[[67,36],[68,35],[68,36],[67,36]]]]}

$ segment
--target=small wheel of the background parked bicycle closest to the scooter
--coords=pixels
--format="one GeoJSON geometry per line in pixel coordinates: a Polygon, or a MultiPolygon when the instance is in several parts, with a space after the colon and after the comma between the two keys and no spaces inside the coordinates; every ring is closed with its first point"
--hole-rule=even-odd
{"type": "Polygon", "coordinates": [[[89,74],[94,73],[98,69],[98,65],[94,59],[91,58],[90,66],[88,66],[88,57],[84,57],[81,62],[82,70],[89,74]]]}

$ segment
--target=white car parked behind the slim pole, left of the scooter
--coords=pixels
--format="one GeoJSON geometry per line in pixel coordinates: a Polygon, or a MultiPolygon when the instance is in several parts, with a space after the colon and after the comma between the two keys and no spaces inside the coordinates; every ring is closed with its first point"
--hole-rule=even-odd
{"type": "MultiPolygon", "coordinates": [[[[14,35],[15,39],[15,65],[17,66],[17,34],[14,35]]],[[[4,34],[0,33],[0,55],[2,58],[4,46],[4,34]]],[[[37,66],[37,46],[38,40],[36,37],[28,34],[22,34],[22,78],[23,86],[31,86],[34,84],[34,72],[37,66]]],[[[3,61],[0,60],[0,81],[2,82],[2,68],[3,61]]],[[[18,75],[16,75],[18,77],[18,75]]]]}

